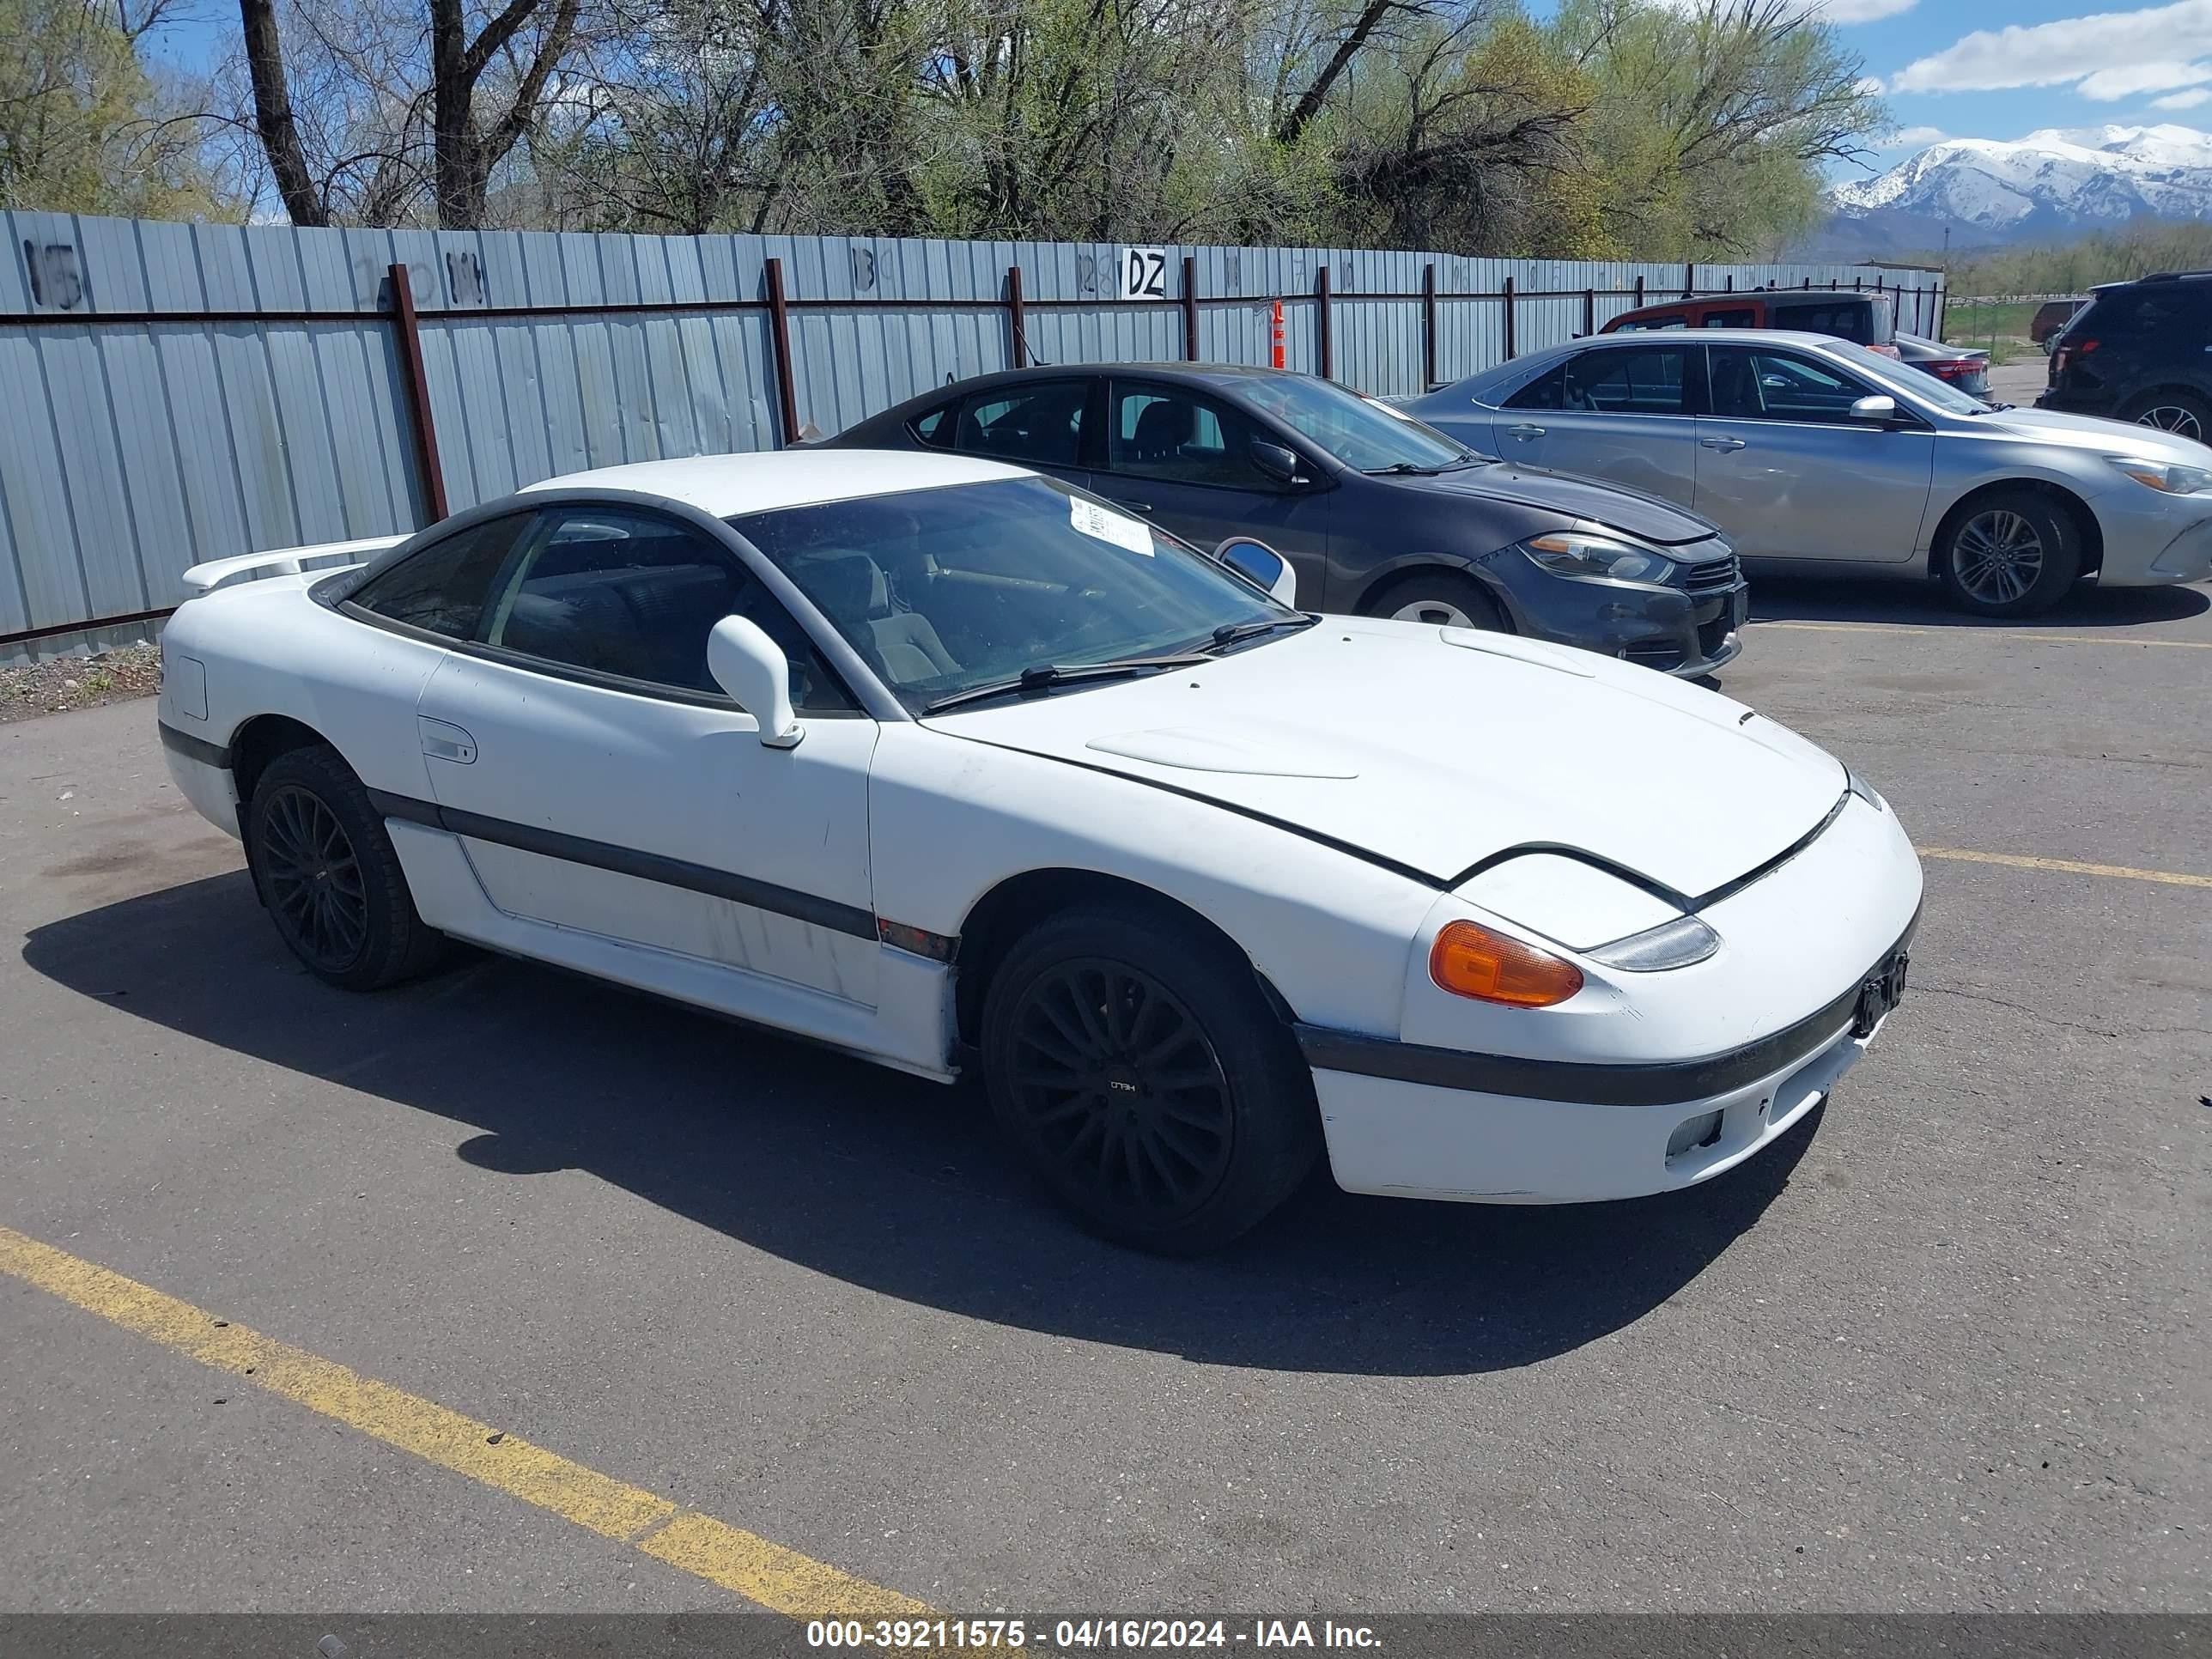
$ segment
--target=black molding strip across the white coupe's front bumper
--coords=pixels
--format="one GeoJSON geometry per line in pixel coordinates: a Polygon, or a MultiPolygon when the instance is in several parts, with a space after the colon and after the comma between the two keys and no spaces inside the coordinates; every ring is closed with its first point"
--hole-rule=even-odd
{"type": "Polygon", "coordinates": [[[1349,1071],[1360,1077],[1467,1088],[1482,1095],[1571,1099],[1586,1106],[1681,1106],[1743,1088],[1827,1048],[1858,1018],[1858,993],[1865,989],[1867,975],[1880,971],[1905,949],[1918,927],[1920,914],[1913,911],[1913,920],[1898,936],[1898,942],[1882,951],[1880,962],[1874,962],[1867,973],[1851,982],[1849,991],[1827,1006],[1759,1042],[1705,1060],[1604,1066],[1579,1060],[1526,1060],[1522,1055],[1431,1048],[1329,1026],[1298,1024],[1294,1031],[1305,1064],[1314,1071],[1349,1071]]]}

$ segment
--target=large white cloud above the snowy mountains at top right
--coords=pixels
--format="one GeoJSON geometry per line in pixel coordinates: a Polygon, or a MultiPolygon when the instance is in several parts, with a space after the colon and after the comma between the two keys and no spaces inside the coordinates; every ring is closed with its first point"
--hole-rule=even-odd
{"type": "Polygon", "coordinates": [[[2188,69],[2212,53],[2212,0],[2179,0],[2137,11],[2099,11],[2055,22],[1975,29],[1942,51],[1900,69],[1893,93],[1986,93],[2006,86],[2079,84],[2090,97],[2128,97],[2130,91],[2181,86],[2161,73],[2188,69]],[[2150,75],[2150,80],[2141,80],[2150,75]],[[2130,86],[2132,77],[2132,86],[2130,86]],[[2090,91],[2090,82],[2097,91],[2090,91]],[[2110,91],[2130,86],[2130,91],[2110,91]]]}

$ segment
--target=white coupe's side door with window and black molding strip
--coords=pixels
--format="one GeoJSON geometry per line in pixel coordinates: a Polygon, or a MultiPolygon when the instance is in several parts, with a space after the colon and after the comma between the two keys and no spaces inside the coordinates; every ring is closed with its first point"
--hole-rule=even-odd
{"type": "Polygon", "coordinates": [[[509,916],[874,1000],[876,723],[699,529],[546,507],[473,646],[425,686],[418,732],[438,823],[509,916]],[[728,615],[792,659],[799,748],[763,748],[714,686],[706,641],[728,615]]]}

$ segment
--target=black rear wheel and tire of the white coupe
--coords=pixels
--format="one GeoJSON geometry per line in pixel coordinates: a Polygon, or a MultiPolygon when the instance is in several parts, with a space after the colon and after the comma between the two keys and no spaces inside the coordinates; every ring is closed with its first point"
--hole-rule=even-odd
{"type": "Polygon", "coordinates": [[[270,761],[246,812],[246,849],[276,933],[319,980],[380,991],[436,962],[445,940],[416,914],[385,821],[336,750],[270,761]]]}

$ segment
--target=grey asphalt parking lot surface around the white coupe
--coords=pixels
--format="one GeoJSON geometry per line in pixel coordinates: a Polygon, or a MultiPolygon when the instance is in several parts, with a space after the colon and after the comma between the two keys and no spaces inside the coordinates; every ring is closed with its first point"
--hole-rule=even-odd
{"type": "Polygon", "coordinates": [[[1823,1119],[1197,1263],[967,1093],[489,958],[330,991],[150,703],[0,728],[0,1608],[2212,1610],[2212,593],[1754,611],[1723,688],[1929,852],[1823,1119]]]}

